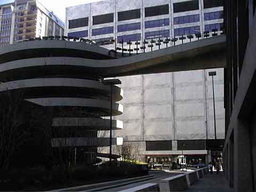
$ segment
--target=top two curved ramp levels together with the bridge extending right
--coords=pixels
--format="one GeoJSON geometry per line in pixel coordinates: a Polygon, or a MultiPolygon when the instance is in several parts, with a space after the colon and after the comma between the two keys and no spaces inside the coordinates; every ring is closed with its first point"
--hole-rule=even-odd
{"type": "Polygon", "coordinates": [[[79,74],[80,71],[84,76],[93,74],[94,77],[117,77],[221,68],[226,66],[226,35],[204,38],[157,51],[132,55],[131,57],[115,58],[107,55],[107,52],[108,50],[102,47],[78,42],[38,41],[18,43],[9,46],[7,51],[0,49],[0,63],[2,63],[0,65],[0,75],[16,77],[17,74],[22,76],[26,72],[25,75],[28,76],[28,71],[31,71],[31,75],[40,76],[38,73],[42,73],[42,70],[38,69],[40,67],[43,69],[46,66],[49,70],[43,70],[44,73],[54,71],[55,75],[68,73],[69,76],[73,76],[79,74]],[[14,52],[22,54],[23,51],[31,50],[35,46],[39,46],[45,55],[35,55],[33,52],[27,52],[26,58],[23,59],[11,57],[14,52]],[[59,52],[57,50],[52,52],[49,48],[51,46],[59,49],[59,52]],[[63,46],[63,49],[69,50],[69,54],[63,52],[61,46],[63,46]],[[93,52],[95,58],[83,56],[89,54],[89,52],[93,52]]]}

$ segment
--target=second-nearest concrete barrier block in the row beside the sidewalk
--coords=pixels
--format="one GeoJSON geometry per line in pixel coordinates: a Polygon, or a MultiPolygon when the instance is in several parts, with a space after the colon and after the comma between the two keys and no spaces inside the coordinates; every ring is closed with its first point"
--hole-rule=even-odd
{"type": "Polygon", "coordinates": [[[188,188],[188,183],[185,174],[176,175],[162,179],[159,182],[160,191],[183,191],[188,188]]]}

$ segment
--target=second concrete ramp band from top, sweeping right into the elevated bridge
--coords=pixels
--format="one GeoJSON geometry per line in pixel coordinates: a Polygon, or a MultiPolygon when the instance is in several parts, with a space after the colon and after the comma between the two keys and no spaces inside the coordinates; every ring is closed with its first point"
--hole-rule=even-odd
{"type": "MultiPolygon", "coordinates": [[[[47,47],[50,46],[50,44],[53,44],[53,42],[49,42],[47,47]]],[[[9,50],[11,51],[10,47],[9,50]]],[[[76,66],[84,70],[85,75],[93,74],[94,76],[102,77],[164,73],[168,71],[225,67],[225,51],[226,36],[221,35],[178,46],[167,47],[162,50],[133,55],[132,57],[112,60],[93,60],[75,57],[63,58],[65,55],[63,55],[63,57],[33,58],[33,55],[31,55],[31,59],[1,64],[0,71],[3,72],[11,69],[31,68],[36,66],[76,66]]]]}

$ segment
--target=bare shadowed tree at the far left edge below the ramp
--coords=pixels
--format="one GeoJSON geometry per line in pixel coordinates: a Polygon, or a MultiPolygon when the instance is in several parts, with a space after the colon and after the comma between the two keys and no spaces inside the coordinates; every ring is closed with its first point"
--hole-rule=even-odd
{"type": "Polygon", "coordinates": [[[21,91],[0,92],[0,172],[9,169],[14,151],[29,138],[25,108],[21,91]]]}

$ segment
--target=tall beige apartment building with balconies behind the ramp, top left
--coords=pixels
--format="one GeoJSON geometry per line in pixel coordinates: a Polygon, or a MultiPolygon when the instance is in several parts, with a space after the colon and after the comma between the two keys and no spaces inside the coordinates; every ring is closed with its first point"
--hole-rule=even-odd
{"type": "Polygon", "coordinates": [[[64,23],[40,2],[16,0],[0,5],[0,46],[29,38],[63,35],[64,23]]]}

